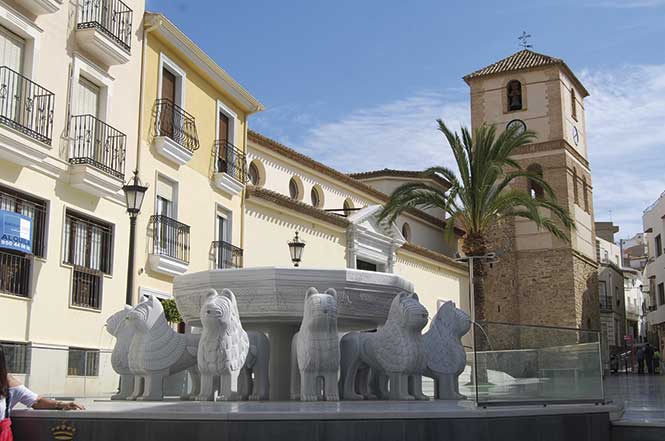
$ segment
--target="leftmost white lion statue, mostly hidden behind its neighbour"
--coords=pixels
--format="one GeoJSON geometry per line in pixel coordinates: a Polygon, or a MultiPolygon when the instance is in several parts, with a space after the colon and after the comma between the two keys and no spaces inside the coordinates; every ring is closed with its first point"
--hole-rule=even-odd
{"type": "Polygon", "coordinates": [[[126,400],[134,390],[134,375],[129,370],[129,346],[136,330],[127,320],[132,307],[125,305],[123,309],[112,314],[106,320],[106,331],[115,337],[115,346],[111,353],[111,367],[120,375],[120,390],[111,397],[112,400],[126,400]]]}

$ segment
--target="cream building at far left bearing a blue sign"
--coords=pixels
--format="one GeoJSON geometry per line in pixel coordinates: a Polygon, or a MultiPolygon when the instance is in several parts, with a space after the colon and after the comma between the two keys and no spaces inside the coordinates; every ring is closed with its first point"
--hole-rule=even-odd
{"type": "Polygon", "coordinates": [[[0,210],[32,240],[0,249],[0,340],[54,395],[117,385],[104,323],[125,303],[144,12],[124,1],[0,2],[0,210]]]}

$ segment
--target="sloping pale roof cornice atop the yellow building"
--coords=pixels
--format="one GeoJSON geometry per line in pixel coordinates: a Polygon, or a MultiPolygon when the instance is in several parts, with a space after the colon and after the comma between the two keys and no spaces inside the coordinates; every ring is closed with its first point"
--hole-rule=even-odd
{"type": "Polygon", "coordinates": [[[194,66],[208,76],[212,80],[212,83],[220,90],[233,98],[245,112],[252,114],[264,109],[263,104],[215,63],[212,58],[203,52],[201,48],[164,15],[146,12],[144,25],[146,30],[157,33],[181,51],[194,66]]]}

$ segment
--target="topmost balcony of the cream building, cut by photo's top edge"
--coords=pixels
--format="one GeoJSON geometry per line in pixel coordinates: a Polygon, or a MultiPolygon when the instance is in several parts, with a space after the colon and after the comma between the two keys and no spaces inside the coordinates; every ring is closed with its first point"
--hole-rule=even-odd
{"type": "Polygon", "coordinates": [[[132,10],[120,0],[82,0],[78,8],[76,41],[108,66],[129,61],[132,10]]]}

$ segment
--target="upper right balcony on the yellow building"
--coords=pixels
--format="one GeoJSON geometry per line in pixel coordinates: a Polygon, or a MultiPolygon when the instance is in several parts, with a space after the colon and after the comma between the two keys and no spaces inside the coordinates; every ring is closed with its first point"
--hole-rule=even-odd
{"type": "Polygon", "coordinates": [[[215,141],[215,186],[230,195],[240,194],[247,183],[245,154],[228,141],[215,141]]]}

